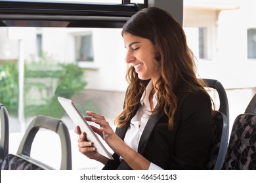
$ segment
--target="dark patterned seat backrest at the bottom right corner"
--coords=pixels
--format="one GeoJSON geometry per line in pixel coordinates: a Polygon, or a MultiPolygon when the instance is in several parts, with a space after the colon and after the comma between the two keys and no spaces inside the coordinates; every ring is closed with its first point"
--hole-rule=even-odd
{"type": "Polygon", "coordinates": [[[256,114],[234,121],[223,169],[256,169],[256,114]]]}

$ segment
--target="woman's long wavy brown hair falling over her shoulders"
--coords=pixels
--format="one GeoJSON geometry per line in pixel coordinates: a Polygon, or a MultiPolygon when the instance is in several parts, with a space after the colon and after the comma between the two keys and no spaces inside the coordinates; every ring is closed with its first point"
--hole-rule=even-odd
{"type": "MultiPolygon", "coordinates": [[[[194,55],[188,48],[184,31],[165,10],[150,7],[134,14],[123,25],[123,33],[149,39],[156,49],[156,62],[160,78],[155,86],[158,90],[158,105],[152,116],[164,109],[169,118],[168,127],[173,129],[173,119],[177,109],[178,92],[204,91],[206,84],[196,74],[194,55]]],[[[131,113],[139,105],[140,98],[149,80],[140,80],[134,67],[127,66],[126,79],[129,83],[123,111],[115,119],[117,127],[125,125],[131,113]]]]}

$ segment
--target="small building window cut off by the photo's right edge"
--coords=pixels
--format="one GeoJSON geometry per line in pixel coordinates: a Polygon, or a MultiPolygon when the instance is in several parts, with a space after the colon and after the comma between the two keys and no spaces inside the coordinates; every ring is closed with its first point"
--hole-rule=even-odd
{"type": "Polygon", "coordinates": [[[247,29],[247,58],[256,59],[256,28],[247,29]]]}

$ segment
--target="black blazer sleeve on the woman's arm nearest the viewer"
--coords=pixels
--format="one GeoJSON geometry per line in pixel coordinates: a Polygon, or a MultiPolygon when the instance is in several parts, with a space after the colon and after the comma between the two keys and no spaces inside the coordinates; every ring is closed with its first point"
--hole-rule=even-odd
{"type": "Polygon", "coordinates": [[[171,169],[203,169],[213,137],[211,99],[190,93],[181,99],[171,169]]]}

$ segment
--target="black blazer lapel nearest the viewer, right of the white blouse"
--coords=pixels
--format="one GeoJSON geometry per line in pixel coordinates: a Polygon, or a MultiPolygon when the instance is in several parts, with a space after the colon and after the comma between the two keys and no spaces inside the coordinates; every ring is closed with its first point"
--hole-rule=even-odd
{"type": "Polygon", "coordinates": [[[139,142],[139,146],[138,146],[138,152],[140,154],[142,154],[154,127],[156,126],[156,124],[158,123],[158,121],[164,114],[165,114],[164,110],[161,110],[160,114],[158,114],[148,120],[148,122],[144,128],[144,131],[140,137],[140,142],[139,142]]]}

